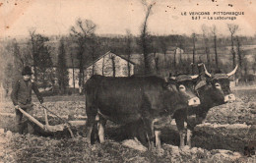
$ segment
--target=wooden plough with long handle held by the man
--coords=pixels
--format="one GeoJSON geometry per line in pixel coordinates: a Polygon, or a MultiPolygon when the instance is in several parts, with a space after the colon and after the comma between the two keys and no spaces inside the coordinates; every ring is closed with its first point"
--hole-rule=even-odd
{"type": "Polygon", "coordinates": [[[24,114],[24,116],[28,117],[29,120],[31,120],[35,125],[37,125],[40,129],[42,129],[45,132],[50,132],[50,133],[62,132],[62,131],[64,131],[64,129],[67,129],[70,133],[70,136],[74,137],[71,127],[86,125],[86,121],[67,121],[67,120],[64,120],[63,118],[59,117],[52,111],[48,110],[45,106],[40,105],[40,107],[42,107],[43,111],[44,111],[45,125],[43,125],[42,123],[37,121],[35,118],[32,117],[32,115],[30,115],[29,113],[24,111],[21,107],[19,107],[18,109],[24,114]],[[51,114],[53,114],[54,116],[56,116],[58,119],[60,119],[63,122],[63,124],[50,126],[49,122],[48,122],[47,111],[50,112],[51,114]]]}

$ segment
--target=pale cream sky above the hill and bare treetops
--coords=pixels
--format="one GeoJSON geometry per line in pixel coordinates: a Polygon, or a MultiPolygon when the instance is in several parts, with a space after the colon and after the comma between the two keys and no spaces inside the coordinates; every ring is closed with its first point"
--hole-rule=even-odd
{"type": "MultiPolygon", "coordinates": [[[[256,34],[256,2],[252,0],[149,0],[156,2],[149,18],[153,34],[202,33],[202,26],[217,27],[228,35],[226,24],[239,26],[237,34],[256,34]],[[186,16],[182,16],[186,12],[186,16]],[[209,12],[192,20],[190,12],[209,12]],[[233,21],[215,20],[214,12],[243,12],[233,21]],[[204,18],[205,17],[205,18],[204,18]],[[213,20],[209,20],[210,18],[213,20]]],[[[91,20],[97,34],[138,35],[146,8],[141,0],[0,0],[0,37],[28,36],[29,30],[45,35],[69,34],[76,21],[91,20]]],[[[235,17],[235,16],[234,16],[235,17]]]]}

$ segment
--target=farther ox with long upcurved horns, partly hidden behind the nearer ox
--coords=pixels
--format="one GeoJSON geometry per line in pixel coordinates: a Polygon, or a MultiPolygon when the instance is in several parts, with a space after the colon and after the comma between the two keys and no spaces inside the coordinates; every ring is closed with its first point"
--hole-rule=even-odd
{"type": "Polygon", "coordinates": [[[228,78],[237,70],[237,66],[228,74],[208,73],[204,64],[198,65],[200,75],[192,76],[195,80],[195,91],[200,98],[201,104],[196,108],[186,110],[177,110],[173,118],[175,119],[178,131],[180,133],[180,147],[184,146],[184,138],[187,135],[187,145],[191,147],[192,131],[198,124],[202,124],[206,119],[208,111],[218,105],[235,100],[231,93],[228,78]],[[193,118],[192,115],[196,117],[193,118]],[[184,128],[184,122],[187,123],[187,130],[184,128]]]}

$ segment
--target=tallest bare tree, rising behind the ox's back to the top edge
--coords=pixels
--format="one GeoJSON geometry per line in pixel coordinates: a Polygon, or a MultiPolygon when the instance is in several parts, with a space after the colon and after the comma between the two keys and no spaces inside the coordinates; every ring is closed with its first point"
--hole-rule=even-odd
{"type": "Polygon", "coordinates": [[[152,13],[152,8],[156,3],[148,4],[146,2],[146,0],[142,0],[141,2],[146,7],[146,16],[145,16],[145,19],[144,19],[144,23],[142,25],[141,36],[140,36],[141,37],[142,51],[143,51],[143,55],[144,55],[144,64],[145,64],[144,65],[144,74],[149,75],[151,70],[150,70],[150,58],[149,58],[149,54],[150,54],[149,37],[150,37],[150,34],[149,34],[149,31],[148,31],[148,20],[149,20],[149,17],[151,15],[151,13],[152,13]]]}

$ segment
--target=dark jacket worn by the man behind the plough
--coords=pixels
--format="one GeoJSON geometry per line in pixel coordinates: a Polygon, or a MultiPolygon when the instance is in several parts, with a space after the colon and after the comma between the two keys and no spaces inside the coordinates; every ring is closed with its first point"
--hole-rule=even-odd
{"type": "Polygon", "coordinates": [[[14,105],[26,105],[32,103],[32,90],[36,94],[38,100],[42,102],[42,96],[40,95],[35,82],[30,80],[28,81],[27,85],[26,81],[24,80],[16,81],[11,93],[11,98],[14,105]]]}

